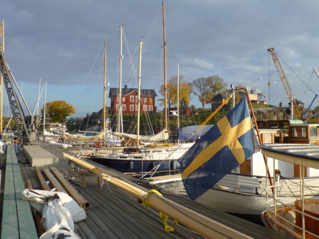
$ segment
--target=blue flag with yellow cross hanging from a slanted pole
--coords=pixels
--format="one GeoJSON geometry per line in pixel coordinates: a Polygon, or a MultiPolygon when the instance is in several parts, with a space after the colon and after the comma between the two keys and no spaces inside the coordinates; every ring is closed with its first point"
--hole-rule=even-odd
{"type": "Polygon", "coordinates": [[[182,180],[194,200],[254,154],[256,134],[243,98],[179,160],[182,180]]]}

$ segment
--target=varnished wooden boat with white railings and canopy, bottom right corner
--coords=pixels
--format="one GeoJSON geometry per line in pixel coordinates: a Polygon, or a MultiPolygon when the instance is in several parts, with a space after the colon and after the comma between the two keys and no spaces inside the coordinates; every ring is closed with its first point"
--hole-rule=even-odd
{"type": "Polygon", "coordinates": [[[277,192],[285,185],[267,187],[266,210],[261,218],[266,227],[287,238],[319,238],[319,199],[306,198],[304,190],[318,192],[317,185],[305,185],[304,168],[319,169],[319,146],[315,144],[262,144],[263,155],[300,165],[300,184],[290,203],[277,192]],[[275,193],[272,193],[272,189],[275,193]]]}

